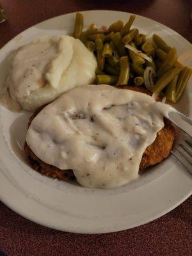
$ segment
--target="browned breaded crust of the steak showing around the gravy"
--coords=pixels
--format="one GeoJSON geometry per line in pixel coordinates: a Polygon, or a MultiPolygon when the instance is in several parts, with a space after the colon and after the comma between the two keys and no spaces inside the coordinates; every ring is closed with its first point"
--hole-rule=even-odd
{"type": "MultiPolygon", "coordinates": [[[[147,89],[142,87],[134,87],[134,86],[116,86],[117,88],[135,90],[137,92],[147,93],[148,95],[152,95],[147,89]]],[[[160,98],[157,101],[161,101],[160,98]]],[[[38,109],[31,118],[29,119],[29,125],[31,124],[33,118],[43,109],[44,107],[38,109]]],[[[148,146],[143,154],[140,163],[140,170],[144,170],[154,164],[161,163],[166,157],[169,156],[170,150],[173,146],[173,141],[175,138],[175,129],[172,123],[164,118],[164,127],[161,131],[157,132],[157,137],[152,145],[148,146]]],[[[40,172],[42,175],[46,175],[47,177],[51,177],[54,179],[60,180],[74,180],[76,179],[72,170],[60,170],[59,168],[52,166],[51,164],[47,164],[44,161],[40,160],[31,148],[29,148],[28,144],[24,145],[24,152],[29,159],[29,163],[32,168],[37,172],[40,172]]]]}

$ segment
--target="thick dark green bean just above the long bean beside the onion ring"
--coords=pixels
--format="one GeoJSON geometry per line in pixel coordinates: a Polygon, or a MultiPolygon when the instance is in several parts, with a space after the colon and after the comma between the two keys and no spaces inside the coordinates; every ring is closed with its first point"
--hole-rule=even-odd
{"type": "Polygon", "coordinates": [[[166,72],[170,71],[173,68],[173,65],[177,61],[177,51],[175,48],[172,48],[170,52],[166,55],[161,67],[157,72],[157,77],[162,77],[166,72]]]}

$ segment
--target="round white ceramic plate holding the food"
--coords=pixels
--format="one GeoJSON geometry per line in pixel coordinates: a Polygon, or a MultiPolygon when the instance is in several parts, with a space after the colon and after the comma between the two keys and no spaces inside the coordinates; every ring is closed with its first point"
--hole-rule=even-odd
{"type": "MultiPolygon", "coordinates": [[[[82,13],[85,26],[93,22],[97,26],[109,25],[116,20],[126,22],[130,15],[113,11],[82,13]]],[[[45,20],[8,42],[0,51],[0,85],[3,86],[8,74],[6,56],[13,49],[39,36],[72,33],[74,19],[75,14],[69,13],[45,20]]],[[[137,16],[134,27],[148,36],[154,32],[161,35],[168,44],[177,47],[179,54],[191,50],[187,40],[154,20],[137,16]]],[[[189,116],[192,116],[191,89],[188,86],[180,104],[175,105],[189,116]]],[[[172,157],[116,189],[87,189],[44,177],[31,170],[20,148],[25,140],[29,115],[0,107],[1,200],[29,220],[70,232],[115,232],[155,220],[191,195],[191,177],[172,157]]]]}

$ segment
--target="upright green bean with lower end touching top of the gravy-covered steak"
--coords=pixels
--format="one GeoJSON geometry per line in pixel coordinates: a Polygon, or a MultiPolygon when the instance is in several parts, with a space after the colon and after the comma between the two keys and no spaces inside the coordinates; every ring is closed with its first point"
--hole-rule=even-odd
{"type": "Polygon", "coordinates": [[[120,58],[120,75],[116,84],[127,84],[129,81],[129,59],[128,56],[120,58]]]}

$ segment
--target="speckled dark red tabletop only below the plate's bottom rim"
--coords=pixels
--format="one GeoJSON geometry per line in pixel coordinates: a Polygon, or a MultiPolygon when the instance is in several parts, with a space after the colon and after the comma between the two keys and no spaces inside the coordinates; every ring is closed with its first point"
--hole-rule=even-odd
{"type": "Polygon", "coordinates": [[[86,235],[42,227],[0,204],[0,250],[9,256],[189,256],[192,255],[191,205],[192,197],[141,227],[86,235]]]}

